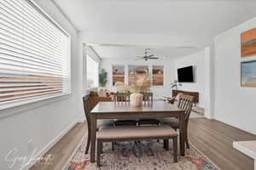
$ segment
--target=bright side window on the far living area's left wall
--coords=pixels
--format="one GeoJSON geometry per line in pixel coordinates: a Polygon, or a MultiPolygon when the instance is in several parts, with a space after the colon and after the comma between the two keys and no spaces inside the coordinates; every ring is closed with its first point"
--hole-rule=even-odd
{"type": "Polygon", "coordinates": [[[90,54],[87,54],[87,88],[99,86],[99,64],[90,54]]]}

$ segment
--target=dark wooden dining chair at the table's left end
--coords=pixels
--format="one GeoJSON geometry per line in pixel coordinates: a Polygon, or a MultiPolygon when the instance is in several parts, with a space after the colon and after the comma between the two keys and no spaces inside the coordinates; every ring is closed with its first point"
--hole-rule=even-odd
{"type": "MultiPolygon", "coordinates": [[[[85,154],[88,153],[89,147],[90,147],[90,110],[93,109],[90,107],[90,95],[85,95],[83,97],[83,102],[84,102],[84,114],[86,117],[86,122],[87,122],[87,143],[86,143],[86,149],[85,149],[85,154]]],[[[112,120],[102,120],[101,122],[97,122],[97,129],[104,127],[104,126],[113,126],[113,121],[112,120]]]]}

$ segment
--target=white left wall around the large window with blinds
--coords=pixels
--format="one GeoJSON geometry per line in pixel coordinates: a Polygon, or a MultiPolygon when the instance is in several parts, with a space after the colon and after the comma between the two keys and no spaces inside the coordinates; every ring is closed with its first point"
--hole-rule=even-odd
{"type": "MultiPolygon", "coordinates": [[[[7,166],[11,163],[4,161],[10,150],[17,149],[17,152],[9,158],[30,156],[32,150],[27,150],[27,142],[32,139],[32,146],[37,149],[36,154],[44,154],[44,151],[54,144],[55,139],[59,139],[77,121],[84,120],[82,107],[83,60],[78,51],[78,32],[52,1],[36,0],[36,2],[72,37],[73,94],[0,111],[0,169],[4,170],[9,169],[7,166]]],[[[20,162],[16,162],[11,169],[20,169],[20,162]]]]}

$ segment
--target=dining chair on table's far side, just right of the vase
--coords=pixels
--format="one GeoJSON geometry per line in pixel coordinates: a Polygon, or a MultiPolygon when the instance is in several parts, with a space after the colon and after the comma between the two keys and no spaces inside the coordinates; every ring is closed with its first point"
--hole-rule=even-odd
{"type": "MultiPolygon", "coordinates": [[[[143,105],[150,105],[153,103],[153,93],[144,92],[143,94],[143,105]]],[[[138,126],[141,125],[160,125],[160,120],[158,119],[139,119],[137,121],[138,126]]]]}

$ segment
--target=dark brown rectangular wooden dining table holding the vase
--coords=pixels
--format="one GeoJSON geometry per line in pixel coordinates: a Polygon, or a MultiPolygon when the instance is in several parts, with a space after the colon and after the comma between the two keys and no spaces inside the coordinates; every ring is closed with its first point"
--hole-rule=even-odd
{"type": "Polygon", "coordinates": [[[90,111],[90,161],[95,161],[96,156],[96,122],[102,119],[139,119],[139,118],[163,118],[178,117],[180,120],[180,155],[185,156],[185,112],[176,105],[165,101],[145,102],[143,105],[134,107],[129,102],[99,102],[90,111]]]}

